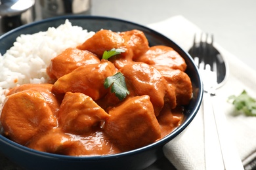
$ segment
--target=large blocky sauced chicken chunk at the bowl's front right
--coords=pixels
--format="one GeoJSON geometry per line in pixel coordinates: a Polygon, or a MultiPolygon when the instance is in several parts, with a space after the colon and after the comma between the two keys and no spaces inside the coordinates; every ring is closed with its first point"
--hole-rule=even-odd
{"type": "Polygon", "coordinates": [[[109,110],[104,131],[123,152],[154,143],[161,131],[148,95],[130,97],[109,110]]]}

